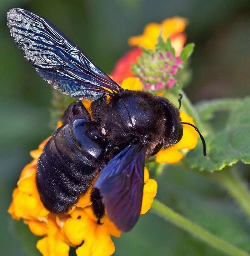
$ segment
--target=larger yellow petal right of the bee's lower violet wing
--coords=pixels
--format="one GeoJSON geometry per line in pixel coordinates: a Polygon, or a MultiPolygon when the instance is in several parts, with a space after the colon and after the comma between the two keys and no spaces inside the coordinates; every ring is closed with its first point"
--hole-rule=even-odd
{"type": "Polygon", "coordinates": [[[146,213],[153,203],[153,198],[156,196],[157,192],[157,182],[154,179],[149,179],[147,183],[144,184],[143,188],[143,202],[141,214],[146,213]]]}

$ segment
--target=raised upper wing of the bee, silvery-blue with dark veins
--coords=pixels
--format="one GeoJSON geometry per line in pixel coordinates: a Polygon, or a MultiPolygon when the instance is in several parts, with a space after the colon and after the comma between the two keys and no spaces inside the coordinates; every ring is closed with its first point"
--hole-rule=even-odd
{"type": "Polygon", "coordinates": [[[96,100],[121,89],[46,19],[17,8],[8,11],[7,19],[10,33],[26,60],[62,93],[96,100]]]}

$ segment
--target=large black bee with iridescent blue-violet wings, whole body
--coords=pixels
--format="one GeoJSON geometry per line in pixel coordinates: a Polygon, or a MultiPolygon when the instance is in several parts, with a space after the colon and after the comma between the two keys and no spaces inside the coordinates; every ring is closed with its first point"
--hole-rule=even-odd
{"type": "Polygon", "coordinates": [[[10,9],[7,19],[18,48],[44,80],[93,101],[92,117],[80,100],[72,103],[46,143],[36,175],[42,203],[66,213],[99,173],[91,193],[98,223],[106,211],[120,230],[129,231],[141,211],[145,158],[182,138],[178,108],[166,98],[122,89],[44,18],[10,9]]]}

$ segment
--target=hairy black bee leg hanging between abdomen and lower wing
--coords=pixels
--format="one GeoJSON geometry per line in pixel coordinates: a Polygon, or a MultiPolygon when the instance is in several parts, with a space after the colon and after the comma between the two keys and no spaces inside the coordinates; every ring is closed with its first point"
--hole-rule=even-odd
{"type": "Polygon", "coordinates": [[[102,197],[100,195],[99,189],[93,188],[91,192],[91,202],[92,202],[92,210],[94,215],[97,218],[97,224],[102,225],[101,218],[103,218],[105,213],[105,207],[102,203],[102,197]]]}

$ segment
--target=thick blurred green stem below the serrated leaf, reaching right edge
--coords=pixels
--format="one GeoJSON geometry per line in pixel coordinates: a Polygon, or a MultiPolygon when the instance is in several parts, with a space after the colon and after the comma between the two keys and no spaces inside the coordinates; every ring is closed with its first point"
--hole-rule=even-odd
{"type": "Polygon", "coordinates": [[[211,174],[209,178],[222,185],[250,218],[250,191],[236,171],[225,168],[223,171],[211,174]]]}

